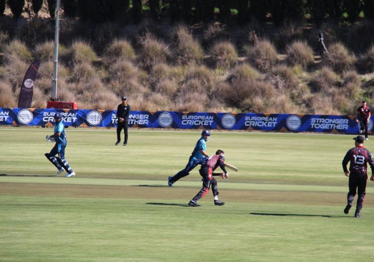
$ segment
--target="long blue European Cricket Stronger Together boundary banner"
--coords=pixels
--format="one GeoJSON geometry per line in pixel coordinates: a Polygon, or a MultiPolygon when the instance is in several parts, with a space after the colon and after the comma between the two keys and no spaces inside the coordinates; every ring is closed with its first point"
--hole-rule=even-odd
{"type": "MultiPolygon", "coordinates": [[[[61,113],[65,126],[117,127],[116,110],[89,109],[32,109],[0,108],[0,125],[55,124],[56,112],[61,113]]],[[[258,130],[280,132],[326,132],[357,134],[359,126],[355,116],[205,113],[205,112],[148,112],[132,111],[129,127],[182,128],[218,130],[258,130]]],[[[368,133],[373,134],[370,119],[368,133]]]]}

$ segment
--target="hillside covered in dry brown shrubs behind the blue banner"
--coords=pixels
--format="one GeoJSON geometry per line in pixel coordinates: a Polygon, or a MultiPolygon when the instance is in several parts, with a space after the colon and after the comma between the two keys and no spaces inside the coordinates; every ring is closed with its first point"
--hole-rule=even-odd
{"type": "MultiPolygon", "coordinates": [[[[1,107],[17,106],[36,59],[32,107],[50,99],[54,21],[31,12],[0,17],[1,107]]],[[[374,26],[364,19],[320,28],[147,21],[93,25],[62,16],[58,98],[108,110],[122,95],[133,110],[149,111],[354,114],[363,98],[374,106],[374,26]]]]}

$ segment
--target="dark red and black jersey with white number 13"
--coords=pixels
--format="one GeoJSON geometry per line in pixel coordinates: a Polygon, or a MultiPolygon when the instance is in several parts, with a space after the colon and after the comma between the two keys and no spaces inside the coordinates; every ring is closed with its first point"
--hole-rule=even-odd
{"type": "Polygon", "coordinates": [[[364,146],[356,146],[349,149],[343,159],[343,170],[347,170],[347,164],[350,162],[349,171],[355,173],[367,173],[367,164],[369,163],[371,173],[374,173],[373,154],[364,146]]]}

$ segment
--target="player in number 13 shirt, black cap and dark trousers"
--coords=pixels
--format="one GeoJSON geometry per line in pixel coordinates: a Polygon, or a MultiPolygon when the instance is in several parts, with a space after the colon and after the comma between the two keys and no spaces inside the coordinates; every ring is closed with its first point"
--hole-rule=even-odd
{"type": "Polygon", "coordinates": [[[355,140],[355,147],[348,150],[342,162],[344,173],[349,177],[349,192],[344,213],[348,214],[349,209],[352,207],[357,189],[358,199],[355,217],[360,217],[360,211],[365,200],[366,182],[368,180],[367,163],[369,163],[372,173],[370,180],[374,181],[374,159],[373,154],[364,147],[364,137],[358,135],[353,140],[355,140]],[[350,162],[349,171],[347,170],[348,162],[350,162]]]}

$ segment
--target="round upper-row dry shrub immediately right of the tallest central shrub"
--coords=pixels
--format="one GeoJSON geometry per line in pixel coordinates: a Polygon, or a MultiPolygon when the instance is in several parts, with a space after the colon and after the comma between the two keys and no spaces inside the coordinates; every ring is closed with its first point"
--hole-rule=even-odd
{"type": "Polygon", "coordinates": [[[230,68],[239,59],[235,46],[228,41],[215,43],[210,50],[210,55],[216,68],[230,68]]]}

